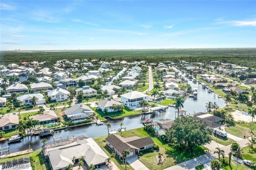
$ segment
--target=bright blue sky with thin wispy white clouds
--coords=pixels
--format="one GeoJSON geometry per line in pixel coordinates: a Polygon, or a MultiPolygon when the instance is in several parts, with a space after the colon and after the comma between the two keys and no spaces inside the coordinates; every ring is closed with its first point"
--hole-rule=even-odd
{"type": "Polygon", "coordinates": [[[0,50],[256,47],[256,1],[1,0],[0,50]]]}

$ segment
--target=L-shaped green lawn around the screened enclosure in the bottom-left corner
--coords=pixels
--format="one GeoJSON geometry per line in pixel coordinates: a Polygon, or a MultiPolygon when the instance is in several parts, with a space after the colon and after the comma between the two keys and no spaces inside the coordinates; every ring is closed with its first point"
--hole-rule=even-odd
{"type": "Polygon", "coordinates": [[[17,159],[17,158],[23,158],[24,156],[31,156],[32,158],[34,158],[34,165],[35,165],[36,170],[50,170],[51,169],[49,161],[44,160],[44,156],[42,155],[42,149],[36,150],[29,154],[15,156],[12,158],[1,159],[1,162],[5,162],[8,160],[13,160],[13,159],[17,159]]]}

